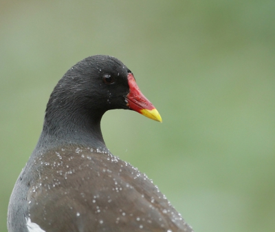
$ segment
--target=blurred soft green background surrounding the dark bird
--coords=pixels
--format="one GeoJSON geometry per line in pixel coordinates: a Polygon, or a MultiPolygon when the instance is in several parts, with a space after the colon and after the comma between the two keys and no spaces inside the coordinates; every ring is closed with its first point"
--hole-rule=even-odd
{"type": "Polygon", "coordinates": [[[116,156],[196,232],[274,231],[275,1],[0,1],[0,231],[59,78],[120,59],[163,123],[107,112],[116,156]]]}

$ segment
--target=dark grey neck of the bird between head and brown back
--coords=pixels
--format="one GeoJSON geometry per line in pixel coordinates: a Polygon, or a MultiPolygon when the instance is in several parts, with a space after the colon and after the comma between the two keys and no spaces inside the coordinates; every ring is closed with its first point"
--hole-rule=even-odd
{"type": "Polygon", "coordinates": [[[104,112],[81,112],[70,107],[47,107],[43,130],[35,151],[42,152],[60,146],[89,146],[94,149],[106,148],[100,120],[104,112]],[[71,109],[71,110],[70,110],[71,109]]]}

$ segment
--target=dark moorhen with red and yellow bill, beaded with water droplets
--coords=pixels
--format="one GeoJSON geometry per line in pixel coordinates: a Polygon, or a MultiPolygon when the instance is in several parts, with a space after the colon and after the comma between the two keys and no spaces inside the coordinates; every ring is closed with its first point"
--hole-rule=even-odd
{"type": "Polygon", "coordinates": [[[113,56],[89,56],[58,81],[10,196],[9,232],[193,231],[146,174],[107,149],[100,120],[110,109],[162,122],[113,56]]]}

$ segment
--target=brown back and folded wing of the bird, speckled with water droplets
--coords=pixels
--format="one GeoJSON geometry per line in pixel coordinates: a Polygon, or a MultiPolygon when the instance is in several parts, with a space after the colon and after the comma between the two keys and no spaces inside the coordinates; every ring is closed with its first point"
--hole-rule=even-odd
{"type": "Polygon", "coordinates": [[[144,173],[109,151],[62,148],[33,167],[30,218],[47,232],[192,231],[144,173]]]}

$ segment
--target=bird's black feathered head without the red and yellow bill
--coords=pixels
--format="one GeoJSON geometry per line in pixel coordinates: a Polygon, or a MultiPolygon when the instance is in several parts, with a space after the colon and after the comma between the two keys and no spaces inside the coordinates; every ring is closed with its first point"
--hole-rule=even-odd
{"type": "Polygon", "coordinates": [[[76,63],[58,82],[47,112],[52,107],[76,109],[81,114],[102,114],[109,109],[126,109],[129,94],[127,75],[131,71],[112,56],[89,56],[76,63]]]}

